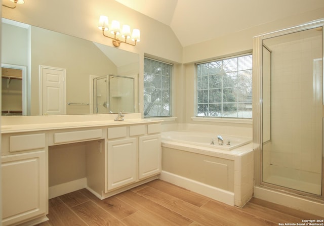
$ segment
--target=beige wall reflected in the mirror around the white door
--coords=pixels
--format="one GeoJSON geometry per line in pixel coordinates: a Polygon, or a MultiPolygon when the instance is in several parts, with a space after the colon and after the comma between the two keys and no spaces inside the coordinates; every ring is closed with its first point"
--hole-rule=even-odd
{"type": "MultiPolygon", "coordinates": [[[[117,67],[93,42],[31,28],[31,115],[39,112],[39,65],[66,69],[66,101],[89,103],[89,76],[116,74],[117,67]]],[[[90,106],[67,105],[67,114],[89,114],[90,106]]]]}

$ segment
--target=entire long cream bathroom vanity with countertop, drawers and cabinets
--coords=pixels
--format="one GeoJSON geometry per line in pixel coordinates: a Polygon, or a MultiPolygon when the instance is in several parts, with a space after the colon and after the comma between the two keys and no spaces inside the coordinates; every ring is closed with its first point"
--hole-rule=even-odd
{"type": "Polygon", "coordinates": [[[47,220],[49,147],[85,144],[84,187],[100,199],[157,178],[161,171],[160,121],[141,119],[140,114],[129,116],[124,121],[114,121],[115,115],[108,119],[97,116],[96,121],[90,118],[94,116],[73,115],[3,120],[3,225],[47,220]]]}

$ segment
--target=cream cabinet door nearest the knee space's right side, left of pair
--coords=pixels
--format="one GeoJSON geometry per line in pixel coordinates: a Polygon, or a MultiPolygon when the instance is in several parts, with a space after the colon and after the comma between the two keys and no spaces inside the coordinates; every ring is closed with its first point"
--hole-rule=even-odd
{"type": "Polygon", "coordinates": [[[107,142],[107,190],[136,180],[136,138],[107,142]]]}

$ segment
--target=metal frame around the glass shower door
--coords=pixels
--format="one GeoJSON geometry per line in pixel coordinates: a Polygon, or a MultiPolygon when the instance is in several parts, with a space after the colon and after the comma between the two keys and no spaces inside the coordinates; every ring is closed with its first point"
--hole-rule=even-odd
{"type": "MultiPolygon", "coordinates": [[[[273,184],[269,184],[263,182],[262,180],[262,49],[263,49],[263,40],[282,36],[294,32],[299,32],[303,30],[308,30],[312,28],[322,27],[322,68],[324,71],[324,19],[311,21],[306,24],[298,25],[295,27],[282,29],[266,34],[262,34],[259,36],[255,36],[253,38],[253,145],[254,145],[254,179],[256,187],[265,187],[267,189],[271,189],[278,192],[287,193],[294,196],[301,196],[303,198],[307,198],[310,200],[321,200],[324,201],[324,128],[322,126],[322,180],[321,180],[321,195],[314,195],[307,192],[298,191],[295,189],[290,189],[282,186],[277,186],[273,184]]],[[[324,74],[324,72],[322,72],[324,74]]],[[[322,87],[324,87],[324,75],[322,74],[322,87]]],[[[322,91],[322,104],[324,105],[324,88],[322,91]]],[[[322,125],[324,125],[324,118],[322,117],[322,125]]]]}

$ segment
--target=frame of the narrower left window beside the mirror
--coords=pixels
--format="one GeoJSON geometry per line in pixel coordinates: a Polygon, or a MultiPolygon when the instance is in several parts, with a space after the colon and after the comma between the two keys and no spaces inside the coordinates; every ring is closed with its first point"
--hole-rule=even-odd
{"type": "MultiPolygon", "coordinates": [[[[159,63],[162,63],[162,64],[166,64],[166,65],[170,65],[171,66],[171,68],[170,68],[170,76],[169,76],[169,84],[170,84],[170,87],[169,87],[169,108],[170,108],[170,110],[169,110],[169,115],[167,115],[167,116],[145,116],[144,115],[144,111],[145,111],[145,109],[144,109],[144,106],[145,106],[145,99],[143,99],[143,117],[144,118],[163,118],[163,119],[168,119],[168,118],[173,118],[173,116],[172,116],[172,109],[173,109],[173,105],[172,105],[172,80],[173,80],[173,73],[174,73],[174,64],[172,64],[172,63],[169,63],[169,62],[167,62],[167,61],[162,61],[162,60],[157,60],[157,59],[155,59],[155,58],[151,58],[151,57],[145,57],[144,56],[144,70],[145,70],[145,59],[147,59],[147,60],[150,60],[150,61],[155,61],[155,62],[159,62],[159,63]]],[[[143,89],[145,88],[145,84],[144,84],[144,70],[143,70],[143,89]]],[[[166,89],[165,89],[166,90],[166,89]]],[[[144,90],[143,90],[143,92],[144,92],[144,90]]],[[[144,97],[144,93],[143,93],[143,97],[144,97]]],[[[165,103],[165,102],[164,102],[165,103]]]]}

